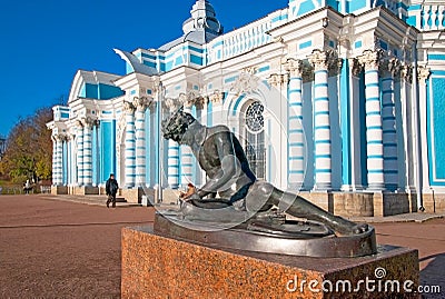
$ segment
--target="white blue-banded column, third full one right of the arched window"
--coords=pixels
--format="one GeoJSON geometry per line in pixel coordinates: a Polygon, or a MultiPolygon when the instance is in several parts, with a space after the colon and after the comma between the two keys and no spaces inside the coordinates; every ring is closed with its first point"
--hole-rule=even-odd
{"type": "Polygon", "coordinates": [[[383,127],[380,108],[380,86],[378,80],[379,52],[366,50],[359,57],[365,66],[365,97],[366,97],[366,149],[368,189],[383,190],[383,127]]]}

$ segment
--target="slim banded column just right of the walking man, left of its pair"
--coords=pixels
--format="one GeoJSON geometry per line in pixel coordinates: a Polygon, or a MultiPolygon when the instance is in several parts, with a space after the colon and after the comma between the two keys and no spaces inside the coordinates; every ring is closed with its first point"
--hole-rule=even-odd
{"type": "Polygon", "coordinates": [[[125,139],[125,187],[135,187],[136,181],[136,149],[135,149],[135,106],[123,102],[126,113],[125,139]]]}

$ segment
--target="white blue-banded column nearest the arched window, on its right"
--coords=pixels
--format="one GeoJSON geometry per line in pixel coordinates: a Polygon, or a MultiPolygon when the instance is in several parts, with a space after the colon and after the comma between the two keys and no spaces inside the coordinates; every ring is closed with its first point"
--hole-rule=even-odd
{"type": "Polygon", "coordinates": [[[305,136],[303,130],[303,78],[301,61],[288,59],[285,64],[289,72],[288,83],[288,188],[300,188],[305,179],[305,136]]]}

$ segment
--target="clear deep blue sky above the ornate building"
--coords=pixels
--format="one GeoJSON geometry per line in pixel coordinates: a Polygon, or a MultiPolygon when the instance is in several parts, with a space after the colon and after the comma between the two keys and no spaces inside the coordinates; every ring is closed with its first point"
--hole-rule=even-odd
{"type": "MultiPolygon", "coordinates": [[[[78,69],[125,73],[113,48],[158,48],[181,36],[195,0],[22,0],[0,9],[0,136],[19,117],[68,97],[78,69]]],[[[210,0],[225,32],[288,0],[210,0]]]]}

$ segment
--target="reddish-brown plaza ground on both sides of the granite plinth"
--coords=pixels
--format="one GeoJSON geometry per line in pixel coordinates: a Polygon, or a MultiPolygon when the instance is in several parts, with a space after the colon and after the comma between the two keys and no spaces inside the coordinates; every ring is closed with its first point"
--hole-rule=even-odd
{"type": "MultiPolygon", "coordinates": [[[[120,297],[120,230],[152,222],[154,209],[62,199],[0,196],[0,298],[120,297]]],[[[425,298],[445,298],[445,219],[397,220],[373,223],[377,241],[417,248],[422,285],[443,290],[425,298]]]]}

